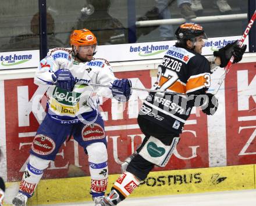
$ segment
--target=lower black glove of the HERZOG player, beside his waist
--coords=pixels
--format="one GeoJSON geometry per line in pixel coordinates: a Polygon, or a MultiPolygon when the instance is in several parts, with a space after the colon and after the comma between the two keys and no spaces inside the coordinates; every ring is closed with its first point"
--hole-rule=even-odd
{"type": "Polygon", "coordinates": [[[202,112],[207,115],[214,115],[219,106],[218,99],[212,93],[206,93],[205,95],[207,98],[201,106],[202,112]]]}

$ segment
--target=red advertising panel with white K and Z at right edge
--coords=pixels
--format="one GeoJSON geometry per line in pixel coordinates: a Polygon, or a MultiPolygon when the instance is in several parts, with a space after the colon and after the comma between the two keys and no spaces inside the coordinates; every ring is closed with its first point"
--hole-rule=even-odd
{"type": "Polygon", "coordinates": [[[256,63],[234,64],[225,82],[227,165],[256,162],[256,63]]]}

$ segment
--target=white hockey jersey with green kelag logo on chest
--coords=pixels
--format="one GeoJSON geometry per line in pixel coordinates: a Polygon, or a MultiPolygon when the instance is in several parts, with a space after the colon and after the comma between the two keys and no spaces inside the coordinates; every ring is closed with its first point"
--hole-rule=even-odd
{"type": "Polygon", "coordinates": [[[111,65],[105,59],[79,63],[74,61],[72,50],[56,48],[41,60],[34,83],[49,86],[47,100],[51,118],[63,124],[72,124],[81,121],[81,117],[97,114],[98,95],[112,97],[110,88],[96,88],[88,84],[111,85],[115,79],[111,65]],[[69,69],[75,78],[72,92],[53,85],[52,74],[60,68],[69,69]]]}

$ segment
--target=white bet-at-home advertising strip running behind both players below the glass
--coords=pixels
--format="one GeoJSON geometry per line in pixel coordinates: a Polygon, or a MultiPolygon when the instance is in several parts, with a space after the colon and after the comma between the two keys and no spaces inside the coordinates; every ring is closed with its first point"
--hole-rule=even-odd
{"type": "MultiPolygon", "coordinates": [[[[240,39],[240,36],[209,38],[202,55],[212,55],[227,43],[240,39]]],[[[101,45],[98,46],[94,57],[104,58],[108,62],[129,62],[135,60],[162,59],[169,46],[176,41],[144,42],[135,44],[101,45]],[[111,51],[111,52],[109,52],[111,51]]],[[[248,45],[248,37],[244,41],[248,45]]],[[[71,49],[71,48],[69,48],[71,49]]],[[[248,52],[248,46],[246,52],[248,52]]],[[[26,50],[18,52],[0,52],[0,71],[19,68],[36,68],[40,62],[39,50],[26,50]]]]}

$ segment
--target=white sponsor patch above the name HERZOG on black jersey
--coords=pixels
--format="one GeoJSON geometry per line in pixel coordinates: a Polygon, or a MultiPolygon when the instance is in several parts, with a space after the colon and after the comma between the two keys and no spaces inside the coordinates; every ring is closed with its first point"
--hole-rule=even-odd
{"type": "Polygon", "coordinates": [[[170,49],[166,52],[166,55],[175,59],[179,59],[186,64],[189,62],[191,57],[195,56],[193,53],[188,52],[186,49],[177,48],[175,46],[170,47],[170,49]]]}

